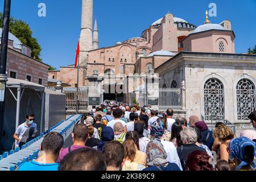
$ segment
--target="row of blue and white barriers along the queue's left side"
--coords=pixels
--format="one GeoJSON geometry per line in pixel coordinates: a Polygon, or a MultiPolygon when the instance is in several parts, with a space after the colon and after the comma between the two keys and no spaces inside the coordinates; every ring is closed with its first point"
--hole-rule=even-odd
{"type": "Polygon", "coordinates": [[[51,127],[46,132],[41,133],[40,137],[24,144],[21,148],[16,147],[15,150],[3,153],[3,155],[0,155],[0,171],[14,171],[23,162],[38,158],[39,146],[43,141],[43,137],[52,131],[58,132],[64,137],[63,147],[71,146],[71,133],[80,119],[81,115],[72,115],[68,119],[65,119],[51,127]]]}

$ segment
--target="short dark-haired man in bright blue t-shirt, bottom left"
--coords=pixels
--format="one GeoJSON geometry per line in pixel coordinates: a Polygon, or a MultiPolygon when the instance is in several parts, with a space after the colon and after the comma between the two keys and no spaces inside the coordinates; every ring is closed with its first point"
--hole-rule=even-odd
{"type": "Polygon", "coordinates": [[[48,133],[40,144],[38,159],[21,164],[17,171],[57,171],[59,164],[56,160],[63,144],[64,139],[59,133],[48,133]]]}

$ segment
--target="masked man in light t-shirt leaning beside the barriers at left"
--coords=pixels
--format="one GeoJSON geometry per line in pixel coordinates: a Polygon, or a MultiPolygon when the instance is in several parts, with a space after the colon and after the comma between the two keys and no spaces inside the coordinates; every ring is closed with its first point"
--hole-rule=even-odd
{"type": "MultiPolygon", "coordinates": [[[[19,127],[16,129],[13,138],[15,139],[15,147],[21,147],[20,145],[25,144],[27,142],[26,141],[22,141],[22,143],[20,143],[20,141],[23,138],[24,133],[26,133],[27,130],[33,130],[33,133],[36,133],[36,123],[35,121],[35,115],[34,114],[28,114],[26,116],[26,120],[24,123],[22,123],[21,125],[19,125],[19,127]],[[32,127],[32,129],[30,129],[32,127]]],[[[28,132],[29,133],[29,132],[28,132]]]]}

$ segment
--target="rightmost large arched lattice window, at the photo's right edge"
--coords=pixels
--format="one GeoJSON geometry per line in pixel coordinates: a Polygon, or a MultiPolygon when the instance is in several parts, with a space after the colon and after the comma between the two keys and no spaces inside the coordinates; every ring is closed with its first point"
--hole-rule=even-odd
{"type": "Polygon", "coordinates": [[[255,86],[248,79],[242,79],[237,84],[237,119],[247,120],[248,115],[255,110],[255,86]]]}

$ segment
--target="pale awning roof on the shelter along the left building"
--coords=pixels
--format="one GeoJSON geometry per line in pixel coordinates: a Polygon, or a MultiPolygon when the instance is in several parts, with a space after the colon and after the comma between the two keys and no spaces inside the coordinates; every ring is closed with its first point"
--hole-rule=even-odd
{"type": "Polygon", "coordinates": [[[14,78],[8,78],[6,82],[7,88],[30,88],[39,92],[44,92],[44,86],[35,84],[34,82],[19,80],[14,78]]]}

